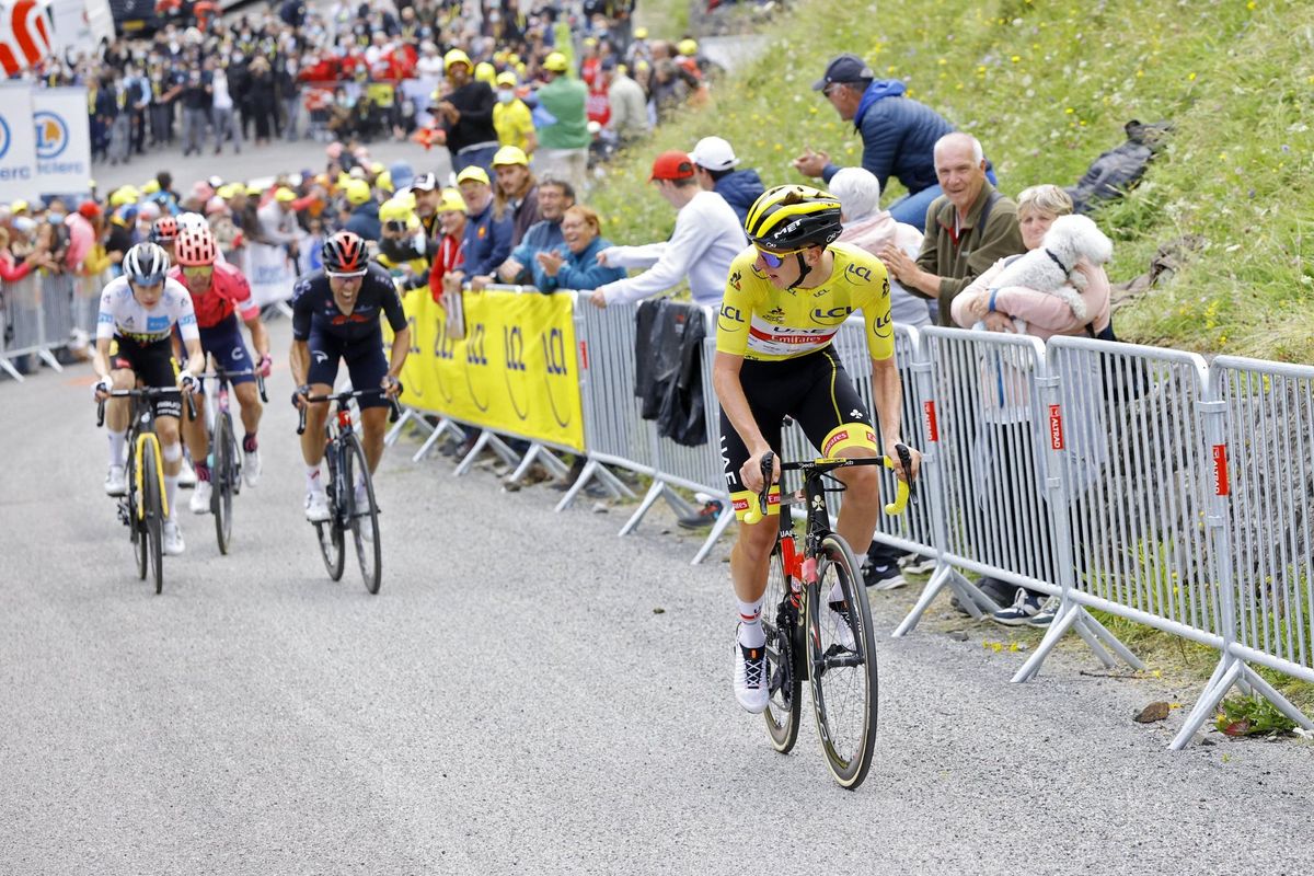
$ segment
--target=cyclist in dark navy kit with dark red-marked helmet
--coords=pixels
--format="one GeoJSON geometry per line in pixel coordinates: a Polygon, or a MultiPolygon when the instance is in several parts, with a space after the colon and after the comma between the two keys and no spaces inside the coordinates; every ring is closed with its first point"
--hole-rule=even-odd
{"type": "MultiPolygon", "coordinates": [[[[388,398],[401,390],[397,376],[410,351],[410,328],[393,278],[369,261],[365,242],[351,231],[339,231],[323,244],[323,268],[301,277],[293,288],[292,353],[288,364],[297,382],[293,405],[306,408],[301,454],[306,461],[306,519],[328,519],[328,496],[319,477],[325,454],[327,402],[307,402],[307,395],[326,395],[338,378],[338,362],[347,362],[355,389],[382,389],[388,398]],[[392,355],[384,356],[380,317],[393,330],[392,355]]],[[[360,399],[365,462],[369,473],[384,456],[388,418],[384,395],[360,399]]],[[[357,491],[363,485],[356,485],[357,491]]],[[[357,502],[364,502],[357,496],[357,502]]]]}

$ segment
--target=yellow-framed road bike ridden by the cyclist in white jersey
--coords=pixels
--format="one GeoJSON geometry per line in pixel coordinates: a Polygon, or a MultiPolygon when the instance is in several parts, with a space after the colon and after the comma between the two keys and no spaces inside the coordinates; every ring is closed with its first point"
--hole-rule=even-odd
{"type": "MultiPolygon", "coordinates": [[[[114,389],[110,398],[131,399],[127,418],[127,493],[118,499],[118,519],[127,527],[137,557],[137,577],[155,578],[155,592],[164,591],[164,521],[168,520],[168,494],[164,490],[164,454],[155,435],[154,401],[166,395],[183,395],[189,415],[196,416],[196,403],[189,394],[175,387],[114,389]]],[[[96,427],[105,424],[105,402],[96,405],[96,427]]]]}

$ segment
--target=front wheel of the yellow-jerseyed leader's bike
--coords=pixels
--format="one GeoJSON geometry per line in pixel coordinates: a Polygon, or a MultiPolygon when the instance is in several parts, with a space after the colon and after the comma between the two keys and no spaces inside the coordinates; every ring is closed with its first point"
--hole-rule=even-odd
{"type": "Polygon", "coordinates": [[[848,542],[827,536],[808,586],[808,680],[817,737],[844,788],[867,777],[876,743],[876,645],[871,608],[848,542]]]}

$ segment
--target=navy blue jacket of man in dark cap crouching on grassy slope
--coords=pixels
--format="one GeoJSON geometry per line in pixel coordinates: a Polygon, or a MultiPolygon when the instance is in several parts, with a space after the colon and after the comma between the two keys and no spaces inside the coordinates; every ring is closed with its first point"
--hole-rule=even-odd
{"type": "MultiPolygon", "coordinates": [[[[904,91],[896,79],[872,81],[862,95],[853,126],[862,135],[862,167],[880,180],[880,190],[894,176],[909,194],[916,194],[938,184],[936,141],[951,134],[954,126],[925,104],[904,97],[904,91]]],[[[838,171],[827,164],[821,179],[829,183],[838,171]]]]}

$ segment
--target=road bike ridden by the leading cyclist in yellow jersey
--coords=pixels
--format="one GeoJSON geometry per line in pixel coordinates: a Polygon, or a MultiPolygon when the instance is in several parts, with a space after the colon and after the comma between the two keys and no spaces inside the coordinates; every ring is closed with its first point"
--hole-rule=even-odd
{"type": "MultiPolygon", "coordinates": [[[[896,481],[895,500],[886,514],[900,514],[912,494],[912,456],[897,445],[899,465],[907,479],[896,481]]],[[[762,457],[762,493],[745,523],[762,519],[769,502],[774,453],[762,457]]],[[[836,469],[884,465],[888,457],[833,458],[781,464],[786,471],[803,474],[803,489],[781,491],[779,535],[771,550],[762,626],[766,632],[767,687],[766,730],[771,746],[788,753],[799,735],[803,713],[803,678],[807,676],[816,716],[817,737],[830,775],[842,788],[857,788],[867,777],[876,741],[876,644],[871,629],[858,561],[853,549],[830,528],[827,486],[836,469]],[[794,532],[790,506],[802,504],[807,516],[802,537],[794,532]]]]}

